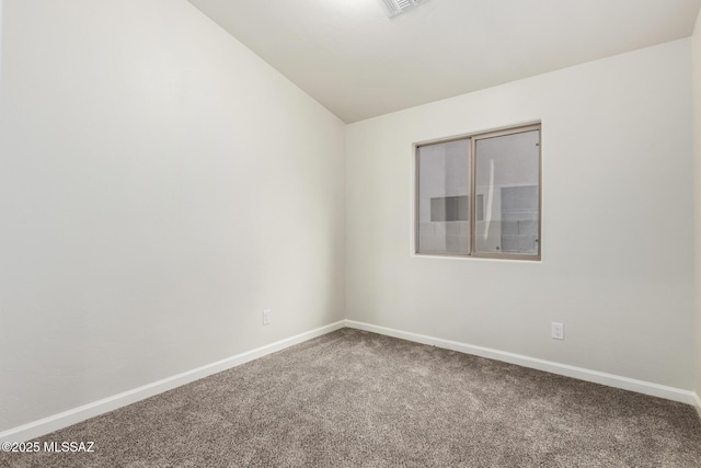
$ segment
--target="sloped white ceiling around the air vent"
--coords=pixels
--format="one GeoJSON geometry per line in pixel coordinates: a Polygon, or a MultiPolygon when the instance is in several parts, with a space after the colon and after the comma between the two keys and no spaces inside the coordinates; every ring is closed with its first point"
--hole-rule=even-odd
{"type": "Polygon", "coordinates": [[[692,34],[701,0],[188,0],[346,123],[692,34]]]}

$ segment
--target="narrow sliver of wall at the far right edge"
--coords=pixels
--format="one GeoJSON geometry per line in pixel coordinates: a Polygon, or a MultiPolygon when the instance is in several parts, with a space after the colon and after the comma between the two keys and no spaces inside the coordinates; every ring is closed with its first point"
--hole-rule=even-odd
{"type": "Polygon", "coordinates": [[[691,76],[693,92],[693,208],[694,208],[694,293],[696,391],[701,395],[701,12],[691,37],[691,76]]]}

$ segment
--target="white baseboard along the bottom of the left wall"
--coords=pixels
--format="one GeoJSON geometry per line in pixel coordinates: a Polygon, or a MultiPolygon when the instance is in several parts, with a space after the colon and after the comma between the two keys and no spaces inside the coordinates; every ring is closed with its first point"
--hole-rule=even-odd
{"type": "Polygon", "coordinates": [[[42,435],[49,434],[54,431],[58,431],[59,429],[77,424],[87,419],[104,414],[118,408],[126,407],[127,404],[135,403],[149,397],[153,397],[154,395],[172,390],[173,388],[180,387],[182,385],[199,380],[200,378],[208,377],[212,374],[240,366],[241,364],[257,359],[258,357],[276,353],[295,344],[303,343],[304,341],[324,335],[326,333],[331,333],[332,331],[340,330],[344,327],[345,321],[341,320],[338,322],[331,323],[325,327],[320,327],[318,329],[277,341],[275,343],[266,344],[265,346],[256,347],[254,350],[227,357],[226,359],[217,361],[215,363],[207,364],[192,370],[186,370],[172,377],[168,377],[131,390],[124,391],[122,393],[114,395],[112,397],[103,398],[102,400],[97,400],[92,403],[83,404],[82,407],[73,408],[71,410],[44,418],[38,421],[34,421],[0,432],[0,443],[31,441],[42,435]]]}

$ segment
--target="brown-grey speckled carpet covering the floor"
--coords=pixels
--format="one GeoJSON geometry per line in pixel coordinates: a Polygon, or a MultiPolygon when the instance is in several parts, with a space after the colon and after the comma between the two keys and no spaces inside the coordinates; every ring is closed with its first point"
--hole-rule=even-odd
{"type": "Polygon", "coordinates": [[[343,329],[39,440],[2,467],[701,467],[692,407],[343,329]]]}

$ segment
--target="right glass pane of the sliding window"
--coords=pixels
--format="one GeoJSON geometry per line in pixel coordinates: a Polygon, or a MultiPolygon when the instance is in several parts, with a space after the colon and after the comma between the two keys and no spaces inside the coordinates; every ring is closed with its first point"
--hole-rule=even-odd
{"type": "Polygon", "coordinates": [[[538,254],[539,145],[539,130],[475,141],[476,253],[538,254]]]}

